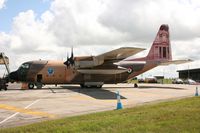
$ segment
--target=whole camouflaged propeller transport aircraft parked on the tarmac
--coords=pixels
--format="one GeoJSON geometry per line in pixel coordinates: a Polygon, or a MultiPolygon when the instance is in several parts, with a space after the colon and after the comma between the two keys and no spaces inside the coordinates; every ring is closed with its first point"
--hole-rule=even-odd
{"type": "Polygon", "coordinates": [[[11,80],[28,83],[28,88],[47,84],[80,84],[81,87],[101,88],[103,84],[124,82],[156,66],[186,63],[172,61],[168,25],[161,25],[146,57],[127,58],[145,49],[121,47],[97,56],[71,57],[65,62],[37,60],[23,63],[11,72],[11,80]]]}

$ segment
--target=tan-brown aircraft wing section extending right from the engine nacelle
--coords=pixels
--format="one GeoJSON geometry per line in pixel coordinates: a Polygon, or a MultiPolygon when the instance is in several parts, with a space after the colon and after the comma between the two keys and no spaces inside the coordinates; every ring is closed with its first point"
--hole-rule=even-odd
{"type": "Polygon", "coordinates": [[[135,55],[145,49],[143,48],[135,48],[135,47],[121,47],[101,55],[96,56],[96,58],[100,58],[103,60],[113,60],[113,59],[125,59],[131,55],[135,55]]]}

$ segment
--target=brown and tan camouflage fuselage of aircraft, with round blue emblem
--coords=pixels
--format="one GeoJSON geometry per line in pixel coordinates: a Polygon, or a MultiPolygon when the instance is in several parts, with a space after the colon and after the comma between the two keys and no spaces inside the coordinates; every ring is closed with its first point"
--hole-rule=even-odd
{"type": "Polygon", "coordinates": [[[117,60],[106,61],[100,66],[93,68],[77,69],[73,66],[67,67],[63,61],[30,61],[25,62],[29,68],[20,67],[16,72],[18,80],[27,83],[42,84],[84,84],[86,82],[121,83],[129,78],[135,77],[153,67],[155,63],[129,66],[133,70],[119,69],[113,65],[117,60]],[[93,72],[91,72],[93,71],[93,72]]]}

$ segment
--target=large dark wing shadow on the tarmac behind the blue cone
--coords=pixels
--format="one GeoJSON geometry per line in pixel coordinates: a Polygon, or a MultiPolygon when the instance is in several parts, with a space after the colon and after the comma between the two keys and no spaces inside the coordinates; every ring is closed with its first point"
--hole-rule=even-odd
{"type": "MultiPolygon", "coordinates": [[[[95,99],[102,99],[102,100],[112,100],[116,99],[116,93],[111,92],[109,90],[105,90],[103,88],[79,88],[75,86],[61,86],[64,89],[68,89],[73,92],[81,93],[95,99]]],[[[127,99],[126,97],[120,95],[121,99],[127,99]]]]}

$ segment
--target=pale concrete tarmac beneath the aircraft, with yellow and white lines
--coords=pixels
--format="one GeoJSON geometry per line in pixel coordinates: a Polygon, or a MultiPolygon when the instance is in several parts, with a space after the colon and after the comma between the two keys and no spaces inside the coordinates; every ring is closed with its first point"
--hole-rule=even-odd
{"type": "Polygon", "coordinates": [[[49,119],[116,109],[116,91],[123,107],[194,96],[195,85],[108,84],[102,89],[81,89],[78,85],[45,86],[21,90],[11,84],[0,91],[0,128],[26,125],[49,119]]]}

